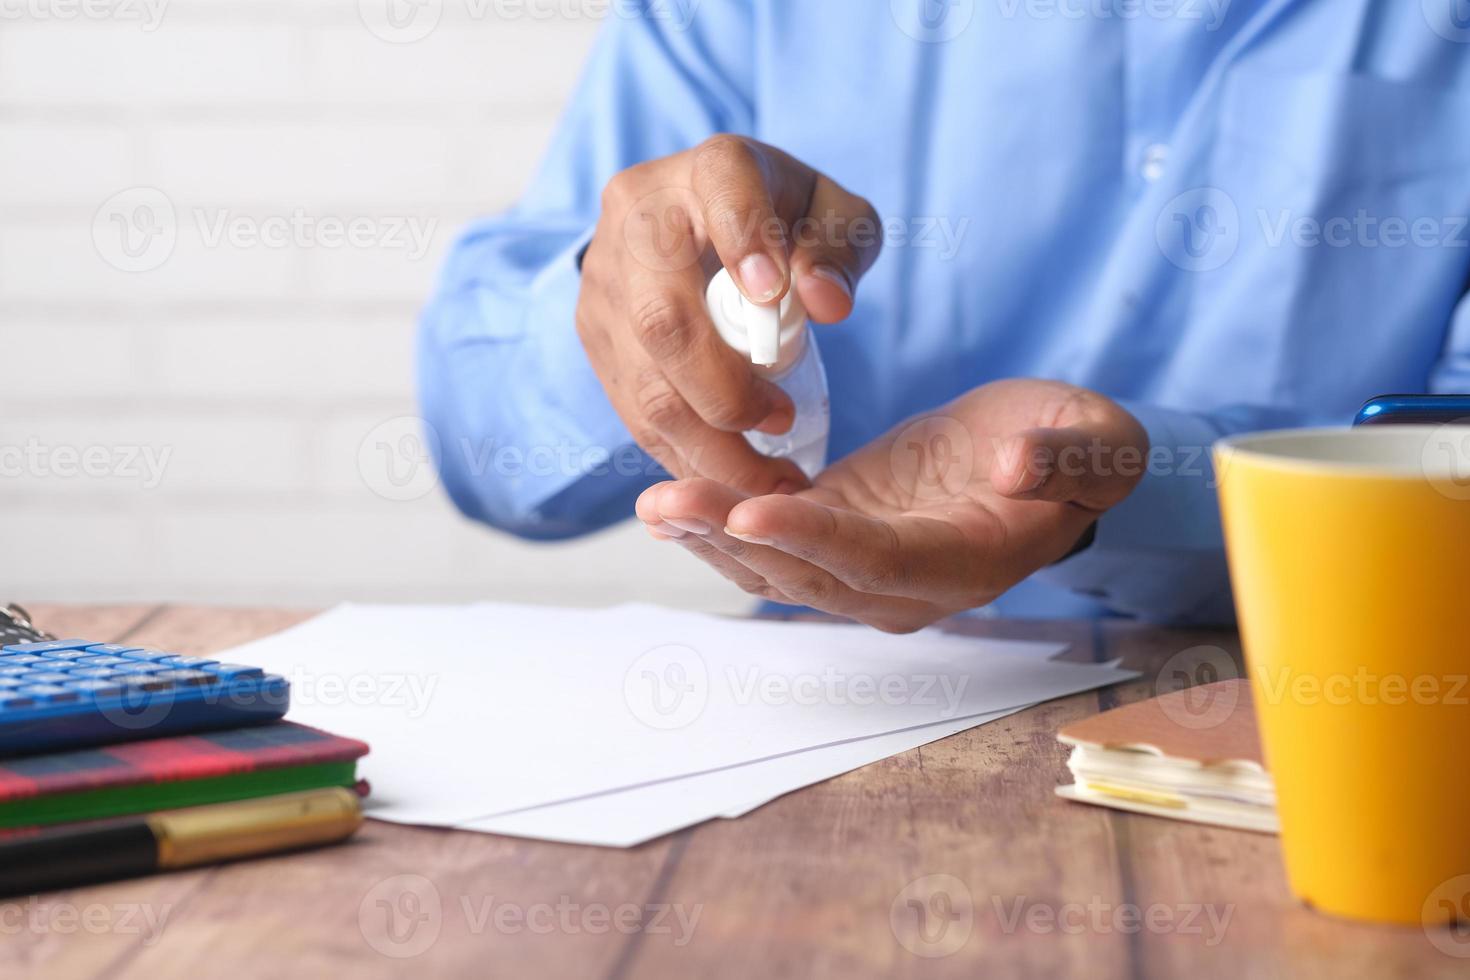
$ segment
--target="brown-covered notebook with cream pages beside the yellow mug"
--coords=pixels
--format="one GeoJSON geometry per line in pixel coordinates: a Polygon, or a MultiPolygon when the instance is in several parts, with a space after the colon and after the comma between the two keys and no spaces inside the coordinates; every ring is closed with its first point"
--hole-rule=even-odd
{"type": "Polygon", "coordinates": [[[1076,780],[1064,799],[1195,823],[1277,833],[1276,790],[1261,758],[1245,680],[1222,680],[1083,718],[1057,738],[1076,780]],[[1200,705],[1225,705],[1201,713],[1200,705]],[[1219,717],[1216,717],[1219,716],[1219,717]]]}

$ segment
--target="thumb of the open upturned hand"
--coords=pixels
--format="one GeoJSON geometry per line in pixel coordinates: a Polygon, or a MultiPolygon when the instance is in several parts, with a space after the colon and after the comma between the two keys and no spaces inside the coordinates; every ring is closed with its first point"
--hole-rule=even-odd
{"type": "Polygon", "coordinates": [[[1144,476],[1148,435],[1136,419],[1064,429],[1026,429],[997,453],[991,485],[1011,500],[1104,511],[1144,476]]]}

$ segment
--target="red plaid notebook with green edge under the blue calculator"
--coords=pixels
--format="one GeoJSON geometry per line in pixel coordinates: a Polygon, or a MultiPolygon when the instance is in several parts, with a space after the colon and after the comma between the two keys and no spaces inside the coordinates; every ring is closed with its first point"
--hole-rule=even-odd
{"type": "Polygon", "coordinates": [[[294,721],[0,760],[0,827],[354,786],[368,746],[294,721]]]}

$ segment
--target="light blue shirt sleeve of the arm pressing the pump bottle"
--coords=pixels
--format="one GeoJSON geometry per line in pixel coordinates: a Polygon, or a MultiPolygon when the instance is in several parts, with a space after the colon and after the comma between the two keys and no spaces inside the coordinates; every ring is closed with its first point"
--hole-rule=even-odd
{"type": "Polygon", "coordinates": [[[603,187],[753,123],[745,4],[709,0],[697,21],[681,21],[681,4],[622,7],[531,188],[460,238],[419,325],[420,408],[450,498],[528,538],[626,517],[664,476],[617,419],[576,334],[578,256],[603,187]]]}

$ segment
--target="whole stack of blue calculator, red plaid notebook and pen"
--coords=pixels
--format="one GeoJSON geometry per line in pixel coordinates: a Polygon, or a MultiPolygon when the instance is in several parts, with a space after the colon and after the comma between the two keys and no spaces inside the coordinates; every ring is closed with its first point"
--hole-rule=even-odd
{"type": "Polygon", "coordinates": [[[368,746],[281,720],[288,701],[259,667],[0,607],[0,895],[351,836],[368,746]]]}

